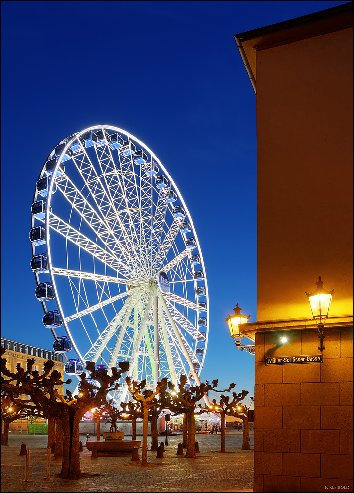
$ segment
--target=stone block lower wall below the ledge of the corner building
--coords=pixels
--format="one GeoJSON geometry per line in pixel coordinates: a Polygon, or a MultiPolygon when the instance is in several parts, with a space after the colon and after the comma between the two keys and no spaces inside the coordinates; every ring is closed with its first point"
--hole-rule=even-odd
{"type": "Polygon", "coordinates": [[[353,329],[327,329],[322,363],[265,365],[319,354],[315,331],[256,334],[255,492],[353,491],[353,329]]]}

